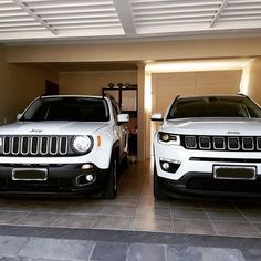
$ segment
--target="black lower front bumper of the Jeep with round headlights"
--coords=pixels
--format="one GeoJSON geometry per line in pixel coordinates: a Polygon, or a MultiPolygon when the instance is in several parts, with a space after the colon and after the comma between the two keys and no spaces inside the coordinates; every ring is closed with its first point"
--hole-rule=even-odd
{"type": "Polygon", "coordinates": [[[81,195],[100,192],[103,190],[107,175],[106,169],[95,165],[82,169],[82,164],[52,164],[52,165],[0,165],[0,194],[2,195],[81,195]],[[46,180],[13,180],[13,169],[44,169],[46,180]],[[86,180],[92,175],[92,181],[86,180]]]}

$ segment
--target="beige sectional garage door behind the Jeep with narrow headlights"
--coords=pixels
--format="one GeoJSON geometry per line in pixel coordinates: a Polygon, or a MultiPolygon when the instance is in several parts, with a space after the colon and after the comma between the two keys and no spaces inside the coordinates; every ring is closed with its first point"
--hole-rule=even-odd
{"type": "Polygon", "coordinates": [[[154,73],[153,112],[165,113],[177,95],[236,94],[242,71],[154,73]]]}

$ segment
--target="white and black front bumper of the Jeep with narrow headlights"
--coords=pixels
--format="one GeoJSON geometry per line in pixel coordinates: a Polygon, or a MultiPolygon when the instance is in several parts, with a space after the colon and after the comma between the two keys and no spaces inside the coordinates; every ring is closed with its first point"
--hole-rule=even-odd
{"type": "Polygon", "coordinates": [[[261,152],[194,150],[155,142],[154,155],[159,189],[168,196],[261,197],[261,152]],[[255,180],[216,179],[215,166],[254,168],[255,180]]]}

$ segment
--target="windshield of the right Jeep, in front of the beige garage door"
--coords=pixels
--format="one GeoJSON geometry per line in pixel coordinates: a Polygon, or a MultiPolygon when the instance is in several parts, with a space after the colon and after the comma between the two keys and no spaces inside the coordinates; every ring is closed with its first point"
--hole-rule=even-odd
{"type": "Polygon", "coordinates": [[[248,97],[195,97],[176,100],[167,119],[187,117],[261,117],[260,107],[248,97]]]}

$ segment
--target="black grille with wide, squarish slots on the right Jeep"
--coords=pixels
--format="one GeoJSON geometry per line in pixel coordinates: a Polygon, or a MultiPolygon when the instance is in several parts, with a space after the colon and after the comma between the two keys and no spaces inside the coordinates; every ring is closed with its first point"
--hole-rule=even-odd
{"type": "Polygon", "coordinates": [[[180,140],[187,149],[261,152],[261,137],[182,135],[180,140]]]}

